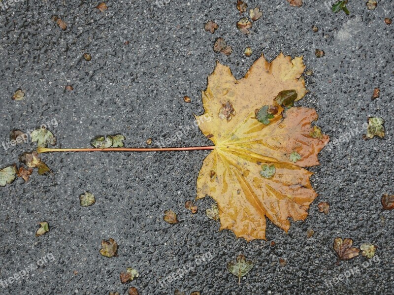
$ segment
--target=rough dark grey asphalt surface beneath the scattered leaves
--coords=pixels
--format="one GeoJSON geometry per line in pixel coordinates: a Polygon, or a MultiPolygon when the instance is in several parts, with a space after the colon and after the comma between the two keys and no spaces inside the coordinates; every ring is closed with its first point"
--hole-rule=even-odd
{"type": "MultiPolygon", "coordinates": [[[[394,27],[384,22],[394,17],[393,1],[380,0],[370,11],[365,0],[351,0],[347,16],[333,14],[330,1],[304,0],[298,8],[285,0],[249,0],[250,8],[261,5],[263,17],[247,36],[236,29],[235,0],[170,0],[162,7],[108,1],[103,13],[95,1],[8,2],[0,12],[2,143],[14,128],[52,122],[57,147],[89,147],[94,136],[115,133],[126,136],[126,146],[146,147],[149,137],[158,146],[179,130],[184,133],[171,146],[207,145],[199,130],[188,127],[193,114],[203,112],[200,90],[215,61],[241,78],[262,53],[272,60],[281,51],[303,55],[313,70],[306,76],[310,92],[297,105],[316,108],[331,140],[357,132],[326,147],[321,165],[310,168],[319,197],[306,221],[293,222],[288,234],[267,222],[268,241],[250,243],[219,232],[219,222],[205,216],[212,199],[199,200],[195,215],[184,208],[196,196],[208,151],[42,155],[54,175],[34,172],[28,183],[18,179],[0,188],[1,282],[31,264],[43,265],[28,278],[0,285],[1,294],[124,294],[131,286],[142,295],[175,289],[201,295],[394,293],[394,211],[383,211],[380,203],[382,194],[394,194],[394,27]],[[53,16],[66,22],[66,31],[53,16]],[[218,23],[216,33],[203,30],[207,20],[218,23]],[[233,48],[229,57],[212,50],[219,36],[233,48]],[[246,46],[253,49],[249,58],[246,46]],[[316,58],[317,48],[325,51],[323,58],[316,58]],[[90,62],[83,59],[86,52],[90,62]],[[375,87],[380,98],[372,100],[375,87]],[[25,91],[24,100],[11,99],[17,89],[25,91]],[[191,103],[183,101],[185,95],[191,103]],[[368,116],[385,119],[384,139],[362,139],[368,116]],[[96,203],[81,207],[78,197],[86,191],[96,203]],[[329,202],[328,215],[319,213],[320,201],[329,202]],[[167,209],[181,223],[165,223],[167,209]],[[40,221],[49,223],[50,232],[35,237],[40,221]],[[309,239],[307,229],[315,231],[309,239]],[[379,259],[366,267],[361,256],[337,263],[336,236],[351,237],[356,246],[377,245],[379,259]],[[118,242],[118,257],[99,254],[101,239],[108,238],[118,242]],[[255,264],[240,286],[226,269],[238,254],[255,264]],[[43,257],[46,262],[39,262],[43,257]],[[139,277],[122,285],[119,274],[126,267],[136,268],[139,277]],[[181,268],[182,276],[160,284],[181,268]]],[[[1,166],[34,149],[32,142],[1,147],[1,166]]]]}

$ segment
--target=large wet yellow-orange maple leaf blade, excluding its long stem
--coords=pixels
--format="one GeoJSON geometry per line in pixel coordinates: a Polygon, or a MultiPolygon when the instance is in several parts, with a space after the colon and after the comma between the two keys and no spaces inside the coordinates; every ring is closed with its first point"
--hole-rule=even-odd
{"type": "Polygon", "coordinates": [[[215,147],[203,161],[196,199],[214,198],[221,230],[247,241],[265,239],[266,217],[287,232],[288,218],[304,220],[317,196],[309,181],[313,173],[303,167],[319,164],[328,136],[311,135],[314,109],[287,109],[274,100],[288,90],[296,92],[295,100],[304,97],[304,69],[302,57],[292,60],[281,53],[268,63],[262,56],[237,80],[228,66],[217,63],[202,92],[205,112],[196,119],[215,147]],[[264,105],[275,109],[267,125],[255,113],[264,105]],[[299,159],[290,159],[292,153],[299,159]]]}

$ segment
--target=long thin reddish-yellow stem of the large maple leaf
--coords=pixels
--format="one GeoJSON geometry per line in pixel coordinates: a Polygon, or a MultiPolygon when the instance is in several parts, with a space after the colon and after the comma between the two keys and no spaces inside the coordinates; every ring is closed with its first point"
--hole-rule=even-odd
{"type": "Polygon", "coordinates": [[[175,148],[84,148],[84,149],[50,149],[37,148],[37,153],[52,152],[169,152],[169,151],[195,151],[195,150],[213,150],[215,146],[192,146],[192,147],[175,147],[175,148]]]}

